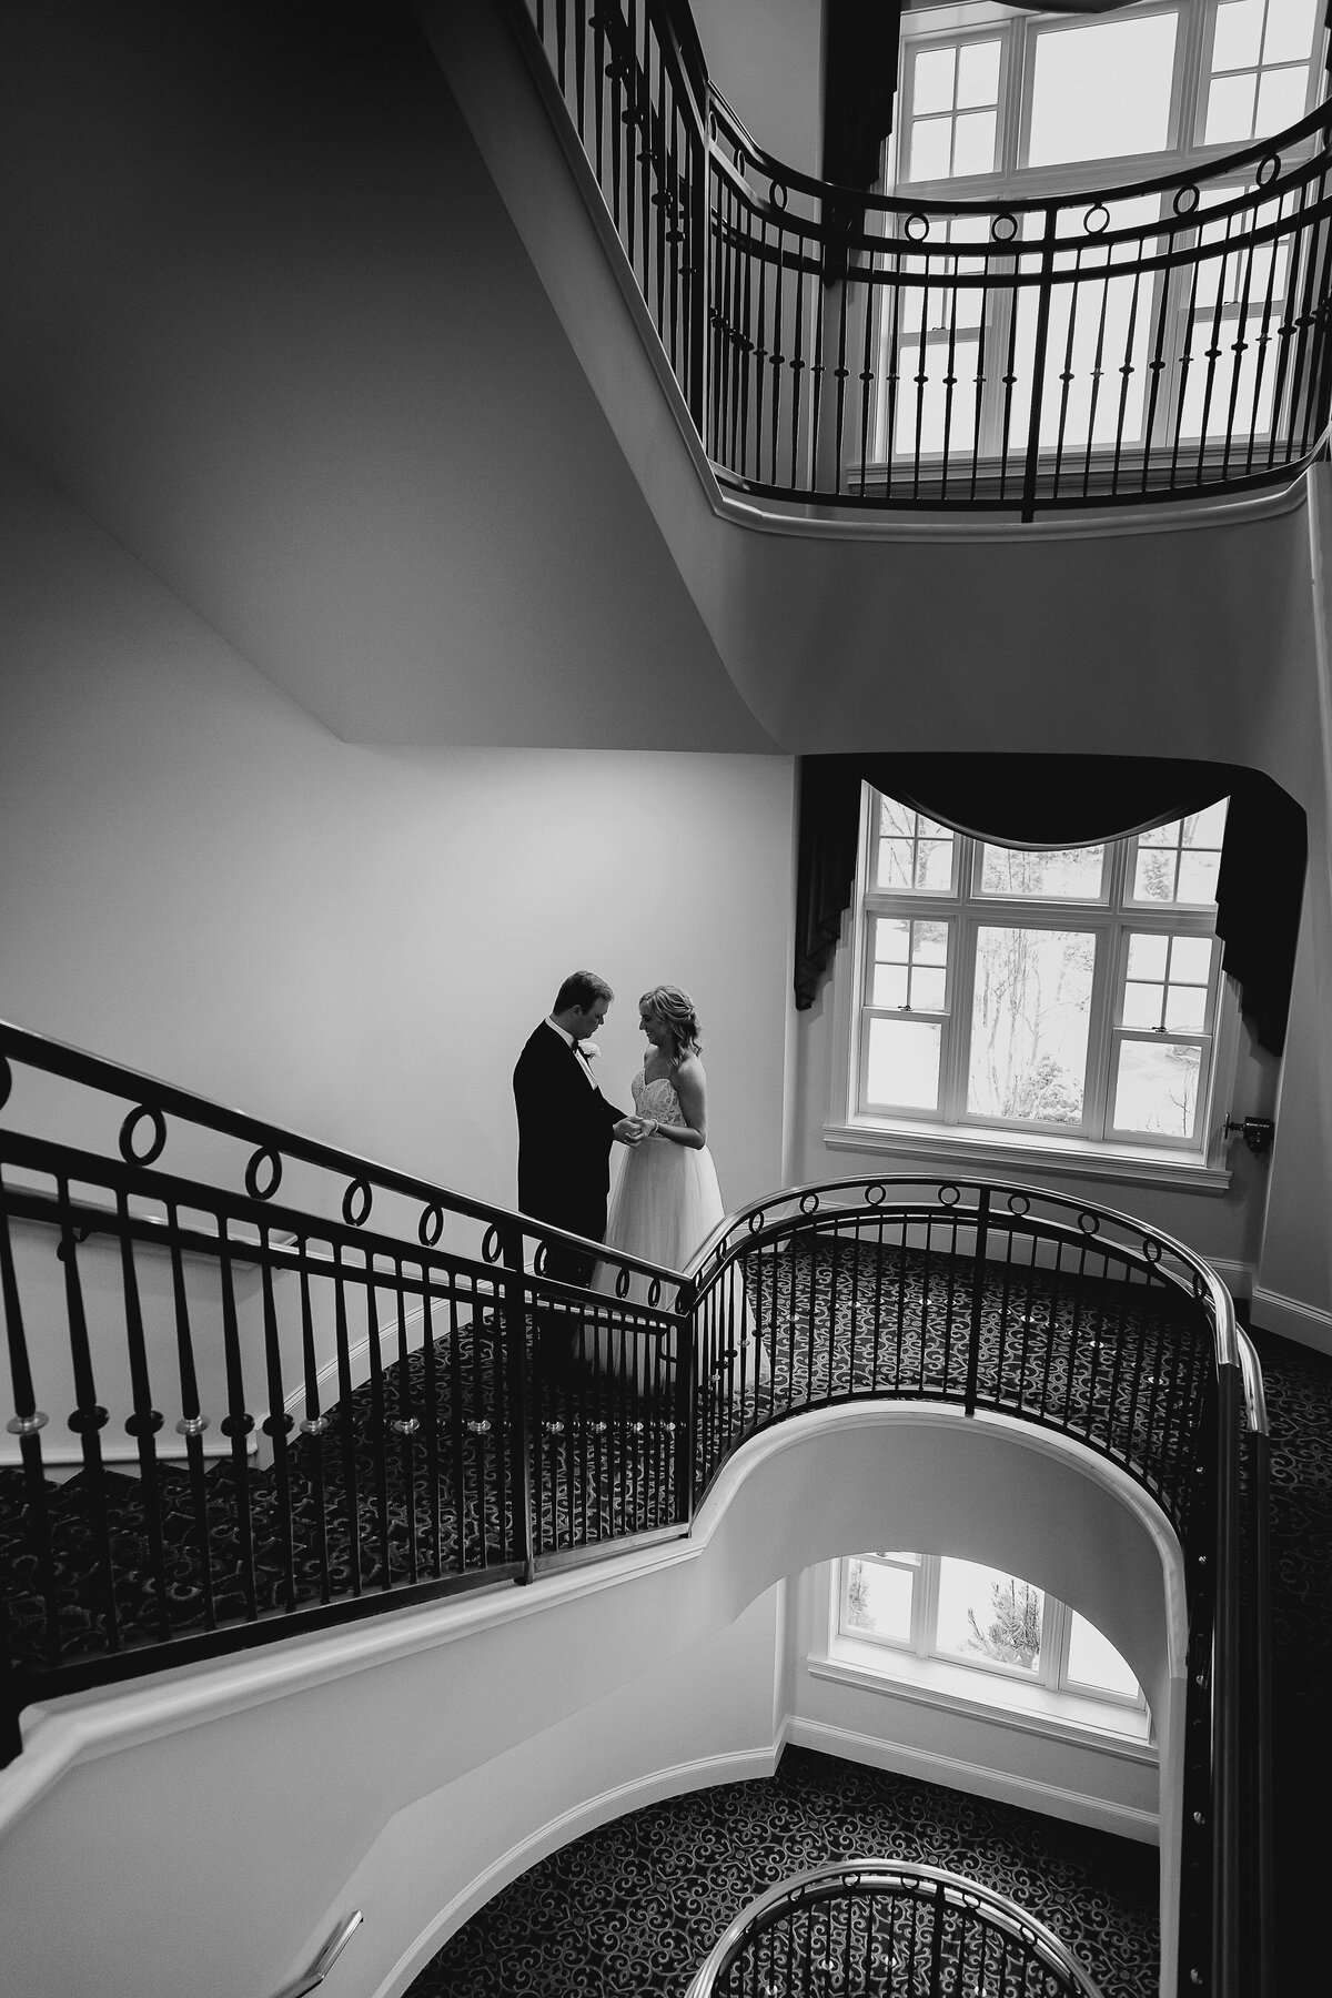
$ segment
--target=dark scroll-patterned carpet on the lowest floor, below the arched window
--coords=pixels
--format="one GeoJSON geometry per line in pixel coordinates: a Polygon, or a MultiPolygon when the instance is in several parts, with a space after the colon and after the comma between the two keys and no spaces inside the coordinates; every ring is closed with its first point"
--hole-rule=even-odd
{"type": "Polygon", "coordinates": [[[683,1998],[755,1894],[867,1854],[947,1866],[1016,1900],[1102,1998],[1156,1988],[1154,1846],[787,1748],[767,1782],[651,1804],[551,1854],[459,1928],[411,1998],[683,1998]]]}

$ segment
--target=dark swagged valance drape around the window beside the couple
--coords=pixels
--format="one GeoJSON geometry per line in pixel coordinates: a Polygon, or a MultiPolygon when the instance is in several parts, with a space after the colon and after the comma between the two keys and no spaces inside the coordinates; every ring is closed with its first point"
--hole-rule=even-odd
{"type": "Polygon", "coordinates": [[[1110,755],[801,757],[795,1003],[813,1005],[855,891],[861,783],[1010,847],[1086,847],[1230,799],[1216,933],[1262,1047],[1286,1041],[1308,851],[1304,811],[1240,763],[1110,755]]]}

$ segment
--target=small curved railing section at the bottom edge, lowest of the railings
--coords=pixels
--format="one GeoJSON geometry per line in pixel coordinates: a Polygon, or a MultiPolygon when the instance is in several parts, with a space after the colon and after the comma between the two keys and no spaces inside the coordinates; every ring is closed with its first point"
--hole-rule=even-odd
{"type": "Polygon", "coordinates": [[[905,1860],[849,1860],[761,1894],[685,1998],[1096,1998],[1042,1922],[975,1880],[905,1860]]]}

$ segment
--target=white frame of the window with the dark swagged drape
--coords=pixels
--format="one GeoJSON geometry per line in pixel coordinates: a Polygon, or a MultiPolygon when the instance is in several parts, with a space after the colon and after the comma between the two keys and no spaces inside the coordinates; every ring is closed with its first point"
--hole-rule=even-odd
{"type": "MultiPolygon", "coordinates": [[[[969,1171],[1058,1171],[1094,1179],[1136,1181],[1196,1191],[1224,1191],[1228,1099],[1240,1045],[1240,1011],[1234,985],[1222,975],[1220,947],[1212,949],[1212,973],[1202,1033],[1164,1033],[1124,1027],[1118,1001],[1124,987],[1130,935],[1214,935],[1214,905],[1134,903],[1128,897],[1136,839],[1114,841],[1106,853],[1106,873],[1096,901],[1090,899],[1000,899],[981,897],[983,841],[957,835],[955,893],[915,891],[901,897],[871,887],[877,841],[877,791],[861,789],[861,839],[849,921],[833,967],[835,1047],[833,1101],[823,1135],[843,1151],[883,1151],[961,1165],[969,1171]],[[871,923],[875,915],[913,915],[949,921],[955,947],[949,953],[947,1029],[941,1073],[941,1103],[935,1111],[873,1109],[865,1103],[867,1021],[871,983],[871,923]],[[997,927],[1004,917],[1014,927],[1088,929],[1100,939],[1088,1029],[1084,1129],[1070,1133],[1058,1125],[1000,1123],[967,1111],[967,1041],[971,1031],[973,961],[971,937],[983,921],[997,927]],[[1126,1039],[1190,1041],[1204,1045],[1194,1137],[1160,1139],[1152,1133],[1114,1131],[1108,1123],[1108,1091],[1116,1073],[1116,1049],[1126,1039]]],[[[891,1011],[891,1009],[885,1009],[891,1011]]],[[[937,1015],[923,1015],[927,1019],[937,1015]]]]}

